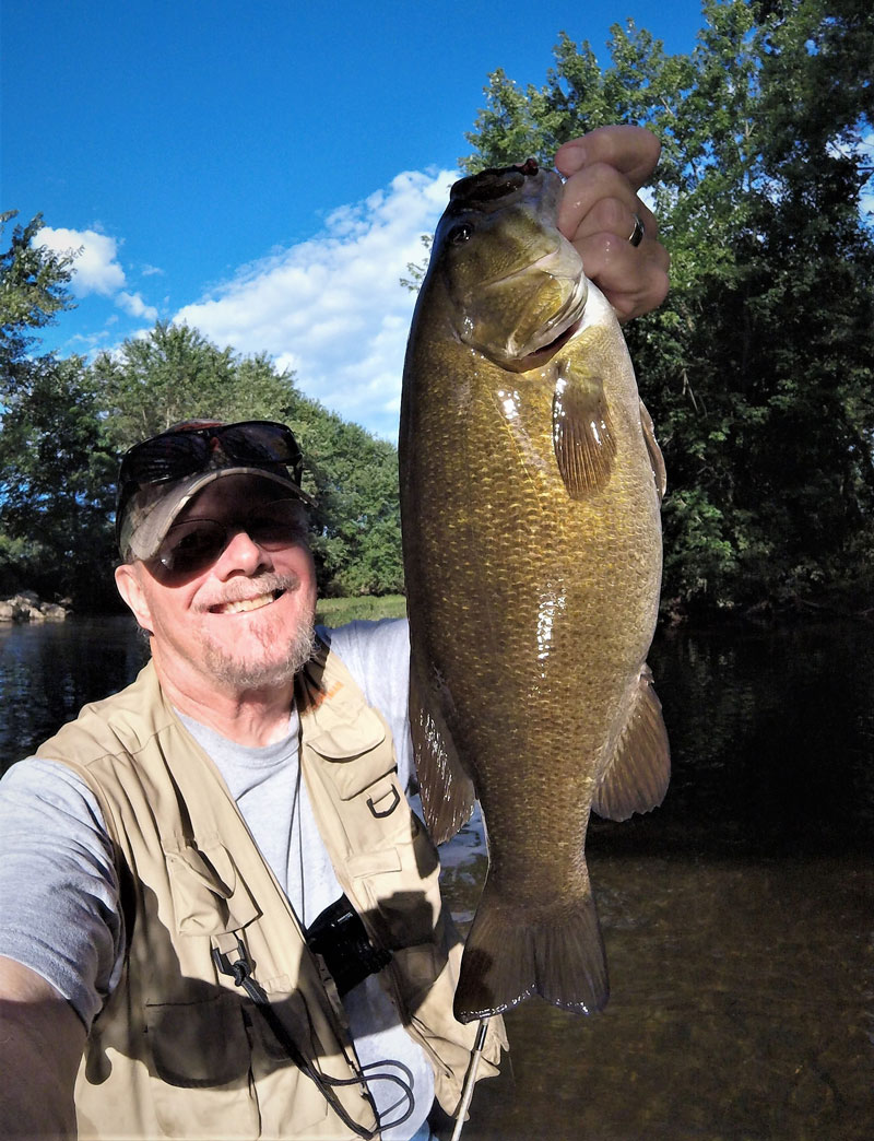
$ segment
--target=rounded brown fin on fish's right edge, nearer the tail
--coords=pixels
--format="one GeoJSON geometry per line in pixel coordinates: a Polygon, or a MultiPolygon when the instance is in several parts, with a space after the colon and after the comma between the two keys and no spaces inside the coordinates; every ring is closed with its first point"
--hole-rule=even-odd
{"type": "Polygon", "coordinates": [[[608,820],[657,808],[671,778],[671,752],[662,703],[648,665],[640,671],[625,728],[601,778],[592,809],[608,820]]]}

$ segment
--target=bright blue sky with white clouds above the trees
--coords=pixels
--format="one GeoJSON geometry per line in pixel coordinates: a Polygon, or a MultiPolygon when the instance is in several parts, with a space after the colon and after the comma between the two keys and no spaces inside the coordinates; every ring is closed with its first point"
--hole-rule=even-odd
{"type": "Polygon", "coordinates": [[[561,31],[607,62],[626,18],[667,51],[702,25],[699,0],[2,0],[0,209],[81,250],[42,348],[184,321],[394,439],[400,278],[489,73],[542,84],[561,31]]]}

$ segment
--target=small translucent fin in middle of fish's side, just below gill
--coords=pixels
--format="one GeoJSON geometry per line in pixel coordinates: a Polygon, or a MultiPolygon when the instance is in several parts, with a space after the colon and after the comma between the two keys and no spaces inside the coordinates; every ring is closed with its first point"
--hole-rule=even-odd
{"type": "Polygon", "coordinates": [[[570,499],[605,487],[616,459],[604,385],[598,377],[560,372],[552,398],[556,461],[570,499]]]}

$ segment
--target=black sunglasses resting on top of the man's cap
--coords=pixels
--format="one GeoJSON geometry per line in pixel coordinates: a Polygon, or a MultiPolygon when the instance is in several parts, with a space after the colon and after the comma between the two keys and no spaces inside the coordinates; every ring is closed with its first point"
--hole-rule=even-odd
{"type": "Polygon", "coordinates": [[[285,424],[274,420],[243,420],[233,424],[194,421],[144,439],[124,453],[119,467],[116,536],[128,502],[141,487],[205,471],[217,452],[222,466],[264,468],[274,474],[281,468],[290,469],[300,486],[304,455],[285,424]]]}

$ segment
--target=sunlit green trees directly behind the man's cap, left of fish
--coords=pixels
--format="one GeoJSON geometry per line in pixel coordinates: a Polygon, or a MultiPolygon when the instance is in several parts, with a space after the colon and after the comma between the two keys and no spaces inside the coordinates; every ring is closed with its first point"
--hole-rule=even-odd
{"type": "Polygon", "coordinates": [[[403,586],[397,453],[300,393],[261,354],[219,349],[197,330],[157,322],[147,337],[102,354],[91,383],[119,452],[180,420],[281,420],[305,456],[305,488],[318,507],[313,549],[327,593],[403,586]]]}

